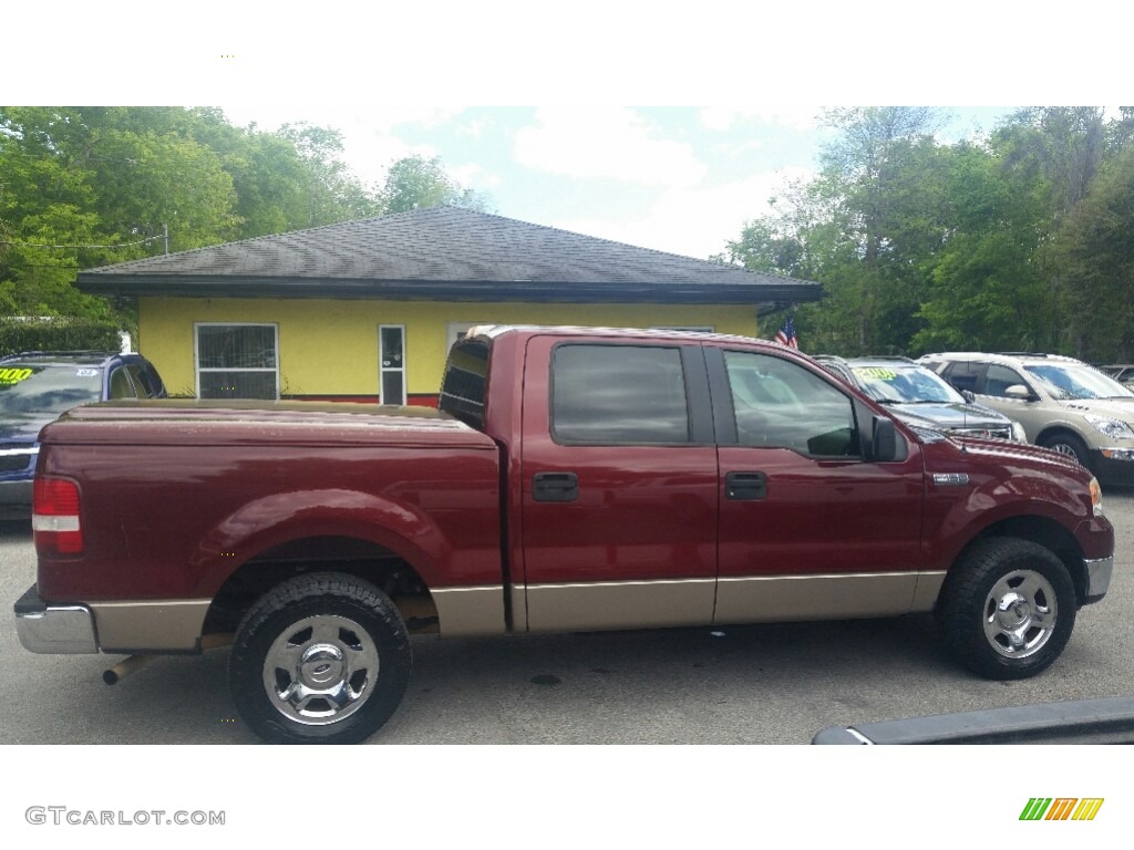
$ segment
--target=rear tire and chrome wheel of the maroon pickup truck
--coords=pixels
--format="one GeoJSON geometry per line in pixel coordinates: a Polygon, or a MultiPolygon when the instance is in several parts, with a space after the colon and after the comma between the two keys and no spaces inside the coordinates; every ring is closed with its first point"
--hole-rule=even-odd
{"type": "Polygon", "coordinates": [[[393,714],[411,665],[409,636],[384,593],[353,576],[311,573],[245,614],[229,689],[270,743],[356,743],[393,714]]]}

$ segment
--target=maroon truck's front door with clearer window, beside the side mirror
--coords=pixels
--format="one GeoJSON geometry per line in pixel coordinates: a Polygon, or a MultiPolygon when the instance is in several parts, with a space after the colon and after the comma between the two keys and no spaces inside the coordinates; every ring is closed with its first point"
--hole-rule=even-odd
{"type": "Polygon", "coordinates": [[[864,457],[873,411],[775,352],[706,349],[720,443],[719,623],[911,610],[920,447],[864,457]],[[862,436],[865,435],[865,444],[862,436]]]}

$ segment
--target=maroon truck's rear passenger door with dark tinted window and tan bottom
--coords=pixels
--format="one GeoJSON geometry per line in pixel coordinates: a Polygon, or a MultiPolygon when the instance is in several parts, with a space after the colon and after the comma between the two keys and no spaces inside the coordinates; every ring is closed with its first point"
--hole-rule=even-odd
{"type": "Polygon", "coordinates": [[[522,477],[531,630],[712,621],[719,487],[699,345],[533,337],[522,477]]]}

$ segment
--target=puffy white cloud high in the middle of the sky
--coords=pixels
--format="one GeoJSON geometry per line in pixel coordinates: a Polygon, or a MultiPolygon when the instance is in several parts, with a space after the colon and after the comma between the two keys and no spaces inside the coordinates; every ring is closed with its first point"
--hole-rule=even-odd
{"type": "Polygon", "coordinates": [[[688,145],[617,107],[540,109],[536,125],[516,134],[515,155],[540,171],[648,186],[693,186],[708,170],[688,145]]]}

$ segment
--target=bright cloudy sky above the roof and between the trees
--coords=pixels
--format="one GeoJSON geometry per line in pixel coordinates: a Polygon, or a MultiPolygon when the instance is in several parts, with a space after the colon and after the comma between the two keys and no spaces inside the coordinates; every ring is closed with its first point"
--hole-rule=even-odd
{"type": "MultiPolygon", "coordinates": [[[[344,134],[354,172],[380,182],[390,162],[438,156],[462,187],[507,218],[697,258],[721,253],[816,168],[822,107],[793,109],[578,104],[454,107],[302,114],[220,104],[238,126],[307,120],[344,134]]],[[[949,138],[1007,108],[949,109],[949,138]]]]}

